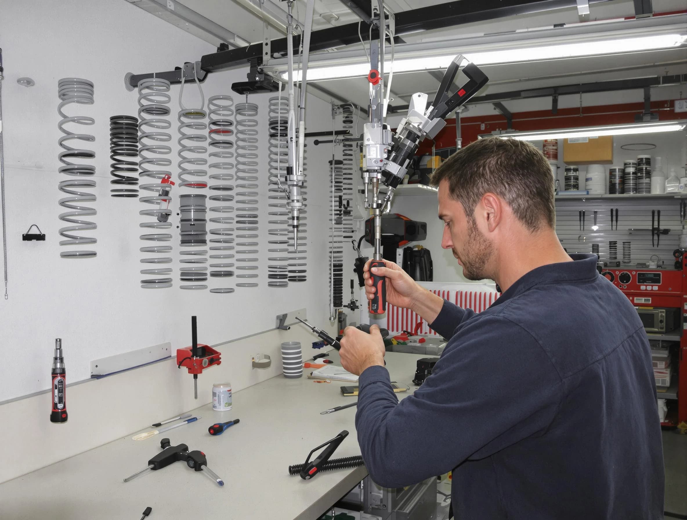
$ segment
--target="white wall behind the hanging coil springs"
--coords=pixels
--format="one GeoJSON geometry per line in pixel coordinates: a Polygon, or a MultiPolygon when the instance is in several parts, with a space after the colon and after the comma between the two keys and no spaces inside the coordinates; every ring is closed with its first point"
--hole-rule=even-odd
{"type": "MultiPolygon", "coordinates": [[[[184,61],[199,60],[214,48],[123,0],[0,0],[0,47],[3,49],[3,137],[8,226],[9,299],[0,298],[0,400],[49,387],[54,339],[61,337],[67,381],[89,377],[91,359],[172,342],[190,344],[191,315],[198,315],[199,340],[219,343],[273,328],[275,315],[307,307],[308,317],[326,325],[326,196],[328,177],[315,166],[326,165],[327,150],[308,148],[308,281],[288,289],[267,288],[267,100],[260,105],[260,287],[237,289],[229,295],[179,289],[179,240],[174,246],[174,287],[144,290],[139,286],[141,234],[137,199],[109,196],[109,117],[136,115],[137,93],[126,91],[124,74],[164,71],[184,61]],[[25,88],[21,76],[36,81],[25,88]],[[58,229],[63,224],[57,204],[64,194],[57,185],[57,81],[76,76],[95,83],[95,104],[69,113],[95,117],[87,131],[95,135],[93,149],[98,200],[93,220],[98,229],[92,259],[65,260],[59,253],[58,229]],[[322,201],[322,203],[320,203],[322,201]],[[325,216],[322,218],[322,216],[325,216]],[[319,217],[319,218],[318,218],[319,217]],[[23,242],[21,234],[36,223],[45,242],[23,242]]],[[[211,74],[203,84],[205,99],[217,93],[234,96],[234,81],[245,80],[246,69],[211,74]]],[[[172,172],[176,176],[177,131],[174,114],[179,86],[172,87],[172,172]]],[[[187,106],[197,95],[186,87],[187,106]],[[188,97],[187,97],[188,96],[188,97]]],[[[328,104],[308,102],[308,131],[330,128],[328,104]],[[320,117],[322,116],[322,117],[320,117]],[[324,126],[324,128],[320,128],[324,126]]],[[[324,170],[326,171],[326,166],[324,170]]],[[[178,192],[177,192],[178,194],[178,192]]],[[[178,198],[175,199],[178,203],[178,198]]],[[[172,228],[174,229],[174,228],[172,228]]],[[[231,286],[236,280],[230,279],[231,286]]],[[[47,412],[47,410],[46,410],[47,412]]]]}

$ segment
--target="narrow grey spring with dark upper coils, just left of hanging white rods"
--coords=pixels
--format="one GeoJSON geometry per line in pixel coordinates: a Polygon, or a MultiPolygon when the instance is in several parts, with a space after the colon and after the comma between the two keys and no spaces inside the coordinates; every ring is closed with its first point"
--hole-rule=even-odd
{"type": "MultiPolygon", "coordinates": [[[[289,212],[286,211],[286,194],[279,187],[279,181],[281,181],[282,187],[286,188],[286,166],[289,166],[289,100],[279,96],[269,98],[267,115],[269,128],[269,144],[267,146],[269,161],[267,169],[267,180],[269,183],[268,215],[270,219],[267,222],[269,224],[267,233],[271,237],[277,237],[271,240],[278,240],[280,242],[286,240],[288,244],[289,232],[291,231],[289,227],[289,212]]],[[[268,257],[268,286],[289,286],[289,256],[286,256],[286,251],[288,250],[287,247],[271,247],[269,249],[271,253],[277,254],[268,257]]]]}

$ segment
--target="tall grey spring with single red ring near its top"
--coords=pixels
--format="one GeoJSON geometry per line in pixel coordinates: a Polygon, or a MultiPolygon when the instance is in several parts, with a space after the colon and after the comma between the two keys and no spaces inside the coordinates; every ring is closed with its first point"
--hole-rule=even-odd
{"type": "MultiPolygon", "coordinates": [[[[219,192],[218,194],[210,195],[209,199],[212,203],[218,205],[211,205],[210,212],[218,213],[219,216],[210,217],[210,222],[221,225],[221,227],[213,227],[210,229],[210,234],[216,238],[210,238],[212,244],[210,246],[210,277],[212,278],[232,278],[234,276],[234,228],[227,227],[234,224],[234,216],[229,215],[234,212],[234,206],[229,204],[234,201],[234,185],[230,182],[234,180],[234,163],[229,159],[234,158],[234,121],[230,119],[234,115],[234,98],[230,95],[213,95],[207,100],[207,123],[208,134],[210,136],[210,148],[214,148],[210,152],[211,159],[219,159],[211,162],[208,165],[210,170],[219,170],[218,172],[210,174],[211,181],[218,181],[217,183],[210,183],[210,190],[219,192]],[[215,251],[212,253],[212,251],[215,251]]],[[[216,287],[210,289],[211,293],[233,293],[234,289],[230,287],[216,287]]]]}

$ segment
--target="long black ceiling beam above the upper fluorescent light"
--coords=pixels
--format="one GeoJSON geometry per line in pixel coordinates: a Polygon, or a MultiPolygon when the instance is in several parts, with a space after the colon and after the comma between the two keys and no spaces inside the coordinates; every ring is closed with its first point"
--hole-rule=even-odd
{"type": "MultiPolygon", "coordinates": [[[[609,0],[589,0],[589,3],[600,3],[609,0]]],[[[395,14],[396,36],[410,34],[412,32],[453,27],[464,23],[517,16],[552,9],[576,8],[576,0],[481,0],[469,2],[465,0],[430,5],[424,8],[412,9],[395,14]]],[[[361,24],[363,25],[363,24],[361,24]]],[[[365,23],[365,33],[369,24],[365,23]]],[[[361,27],[361,32],[362,27],[361,27]]],[[[372,31],[372,38],[376,38],[372,31]]],[[[328,27],[311,34],[311,52],[342,47],[359,43],[358,23],[348,23],[338,27],[328,27]]],[[[300,36],[295,36],[296,48],[300,45],[300,36]]],[[[286,53],[286,38],[277,38],[270,43],[272,54],[286,53]]],[[[262,43],[255,43],[240,49],[229,49],[212,54],[205,54],[201,58],[201,68],[207,72],[216,72],[237,65],[245,65],[247,60],[262,58],[262,43]]]]}

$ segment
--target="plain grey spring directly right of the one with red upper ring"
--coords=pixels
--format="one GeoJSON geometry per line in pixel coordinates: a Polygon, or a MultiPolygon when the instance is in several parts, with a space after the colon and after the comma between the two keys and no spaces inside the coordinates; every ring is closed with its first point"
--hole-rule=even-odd
{"type": "MultiPolygon", "coordinates": [[[[236,278],[258,278],[258,105],[236,104],[236,278]],[[239,119],[238,116],[241,116],[239,119]]],[[[271,251],[271,249],[269,249],[271,251]]],[[[237,287],[257,287],[238,282],[237,287]]]]}

